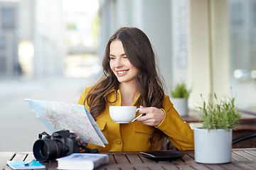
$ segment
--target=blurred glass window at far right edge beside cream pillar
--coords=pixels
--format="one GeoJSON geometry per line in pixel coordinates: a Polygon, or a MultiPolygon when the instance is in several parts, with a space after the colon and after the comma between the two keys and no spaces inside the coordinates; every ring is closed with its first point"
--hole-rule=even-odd
{"type": "Polygon", "coordinates": [[[228,1],[230,86],[240,110],[256,113],[256,1],[228,1]]]}

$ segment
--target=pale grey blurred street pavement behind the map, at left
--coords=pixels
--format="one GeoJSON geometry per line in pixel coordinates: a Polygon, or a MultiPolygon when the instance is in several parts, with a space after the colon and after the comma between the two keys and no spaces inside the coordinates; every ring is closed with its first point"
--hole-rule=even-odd
{"type": "Polygon", "coordinates": [[[47,77],[42,79],[1,79],[1,151],[32,151],[38,134],[48,129],[36,118],[25,98],[77,103],[91,79],[47,77]]]}

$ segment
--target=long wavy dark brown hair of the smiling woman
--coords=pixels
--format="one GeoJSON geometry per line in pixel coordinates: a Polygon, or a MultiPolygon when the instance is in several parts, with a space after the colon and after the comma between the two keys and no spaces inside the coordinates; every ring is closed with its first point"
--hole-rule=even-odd
{"type": "MultiPolygon", "coordinates": [[[[107,42],[105,57],[102,62],[103,76],[100,81],[92,87],[85,100],[90,107],[90,113],[96,118],[105,110],[107,101],[107,92],[114,89],[117,96],[119,81],[110,69],[110,44],[113,40],[121,40],[124,52],[134,67],[139,69],[136,81],[141,94],[139,105],[144,107],[163,108],[164,87],[161,76],[156,71],[156,61],[154,51],[151,47],[149,38],[139,28],[119,28],[107,42]]],[[[116,98],[117,100],[117,98],[116,98]]],[[[164,135],[161,130],[154,128],[149,141],[154,143],[153,139],[159,136],[158,141],[164,135]]]]}

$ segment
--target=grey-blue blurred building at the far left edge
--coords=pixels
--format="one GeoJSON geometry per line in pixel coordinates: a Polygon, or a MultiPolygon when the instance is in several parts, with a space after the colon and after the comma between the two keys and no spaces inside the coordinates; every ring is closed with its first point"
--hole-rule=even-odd
{"type": "Polygon", "coordinates": [[[20,74],[18,63],[18,2],[0,1],[0,76],[20,74]]]}

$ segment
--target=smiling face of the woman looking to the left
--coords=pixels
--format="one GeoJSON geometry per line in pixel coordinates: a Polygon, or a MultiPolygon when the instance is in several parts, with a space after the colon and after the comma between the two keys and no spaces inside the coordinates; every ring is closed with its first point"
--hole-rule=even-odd
{"type": "Polygon", "coordinates": [[[135,81],[138,69],[129,62],[120,40],[110,44],[110,68],[120,83],[135,81]]]}

